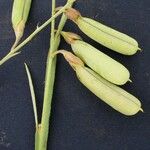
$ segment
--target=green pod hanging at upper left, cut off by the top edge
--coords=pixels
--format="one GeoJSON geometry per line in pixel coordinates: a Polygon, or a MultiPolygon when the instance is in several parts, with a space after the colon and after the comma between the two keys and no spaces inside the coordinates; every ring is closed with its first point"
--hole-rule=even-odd
{"type": "Polygon", "coordinates": [[[26,21],[31,7],[31,0],[14,0],[12,10],[12,25],[16,36],[16,41],[12,46],[15,48],[23,36],[26,21]]]}

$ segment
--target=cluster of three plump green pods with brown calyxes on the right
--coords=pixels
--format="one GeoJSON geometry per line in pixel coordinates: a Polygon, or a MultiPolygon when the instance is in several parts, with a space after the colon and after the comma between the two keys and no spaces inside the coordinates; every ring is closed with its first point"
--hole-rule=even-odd
{"type": "MultiPolygon", "coordinates": [[[[66,15],[86,35],[116,52],[133,55],[139,49],[137,41],[133,38],[90,18],[82,17],[74,9],[67,10],[66,15]]],[[[71,45],[76,56],[66,51],[60,51],[59,53],[65,56],[84,86],[124,115],[131,116],[138,111],[143,111],[141,102],[136,97],[117,86],[131,81],[130,72],[124,65],[84,42],[75,33],[63,31],[61,34],[66,42],[71,45]],[[77,63],[79,59],[80,63],[77,63]],[[89,68],[85,67],[84,63],[89,68]]]]}

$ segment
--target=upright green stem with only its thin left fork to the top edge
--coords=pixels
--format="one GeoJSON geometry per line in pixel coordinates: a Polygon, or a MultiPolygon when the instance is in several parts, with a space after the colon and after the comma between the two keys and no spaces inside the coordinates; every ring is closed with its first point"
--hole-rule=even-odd
{"type": "MultiPolygon", "coordinates": [[[[56,5],[55,0],[52,0],[52,13],[51,13],[52,16],[55,13],[55,5],[56,5]]],[[[51,38],[50,38],[50,48],[48,52],[49,54],[51,51],[54,50],[54,46],[55,46],[54,40],[55,40],[55,19],[51,22],[51,38]]],[[[48,133],[49,133],[49,116],[51,112],[51,99],[53,95],[53,84],[54,84],[55,67],[56,67],[56,59],[50,59],[49,54],[47,57],[45,89],[49,86],[51,86],[51,89],[46,90],[46,95],[48,95],[47,96],[48,101],[46,102],[44,100],[43,103],[43,112],[42,112],[40,131],[38,132],[38,134],[37,133],[35,134],[35,150],[47,149],[47,140],[48,140],[48,133]],[[51,74],[51,77],[47,78],[47,76],[49,76],[49,73],[51,74]],[[46,107],[49,107],[49,109],[47,109],[46,107]]],[[[44,92],[44,98],[45,98],[45,92],[44,92]]]]}

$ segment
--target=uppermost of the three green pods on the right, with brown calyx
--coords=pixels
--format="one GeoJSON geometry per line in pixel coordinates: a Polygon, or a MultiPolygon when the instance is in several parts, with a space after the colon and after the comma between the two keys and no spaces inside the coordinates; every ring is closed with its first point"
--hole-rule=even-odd
{"type": "Polygon", "coordinates": [[[93,19],[82,17],[75,9],[68,9],[66,15],[87,36],[118,53],[133,55],[140,50],[135,39],[93,19]]]}

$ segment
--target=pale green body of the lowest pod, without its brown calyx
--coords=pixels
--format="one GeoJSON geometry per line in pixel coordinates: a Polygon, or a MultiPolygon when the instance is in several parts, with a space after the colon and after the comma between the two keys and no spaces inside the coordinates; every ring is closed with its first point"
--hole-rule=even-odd
{"type": "Polygon", "coordinates": [[[94,72],[91,72],[93,71],[89,71],[86,67],[76,68],[76,74],[79,80],[97,97],[127,116],[134,115],[140,110],[142,111],[141,103],[137,98],[123,90],[121,90],[121,92],[117,91],[115,87],[113,88],[109,85],[110,83],[102,82],[102,80],[99,79],[100,77],[96,78],[96,76],[93,75],[94,72]]]}

